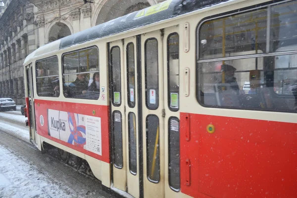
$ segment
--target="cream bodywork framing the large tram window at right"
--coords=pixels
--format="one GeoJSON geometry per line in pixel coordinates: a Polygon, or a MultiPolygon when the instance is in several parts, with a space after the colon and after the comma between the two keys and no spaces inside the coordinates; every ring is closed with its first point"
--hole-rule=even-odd
{"type": "MultiPolygon", "coordinates": [[[[190,50],[189,52],[183,52],[180,55],[180,71],[184,71],[186,67],[190,69],[190,95],[185,96],[185,89],[183,83],[185,82],[185,77],[181,75],[180,93],[181,93],[181,112],[188,113],[198,113],[205,115],[218,115],[218,116],[228,116],[228,117],[238,117],[238,118],[248,118],[248,119],[259,119],[259,120],[270,120],[270,121],[280,121],[280,122],[290,122],[297,123],[296,113],[284,113],[284,112],[268,112],[268,111],[253,111],[253,110],[238,110],[238,109],[219,109],[219,108],[208,108],[203,107],[198,103],[196,99],[196,30],[199,22],[204,17],[216,15],[222,12],[228,12],[233,10],[238,10],[242,7],[247,7],[252,4],[257,4],[265,2],[265,0],[250,2],[247,0],[242,0],[237,3],[232,3],[229,6],[226,4],[213,6],[219,7],[219,9],[210,8],[207,9],[207,15],[195,15],[187,19],[180,20],[180,24],[185,22],[190,23],[190,50]]],[[[180,40],[184,40],[183,34],[180,34],[180,40]]]]}

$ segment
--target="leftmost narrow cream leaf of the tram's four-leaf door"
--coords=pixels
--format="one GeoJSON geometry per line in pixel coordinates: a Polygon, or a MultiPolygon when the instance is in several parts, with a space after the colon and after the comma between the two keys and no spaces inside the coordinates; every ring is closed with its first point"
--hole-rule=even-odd
{"type": "Polygon", "coordinates": [[[127,191],[125,67],[122,41],[110,42],[110,96],[113,185],[127,191]]]}

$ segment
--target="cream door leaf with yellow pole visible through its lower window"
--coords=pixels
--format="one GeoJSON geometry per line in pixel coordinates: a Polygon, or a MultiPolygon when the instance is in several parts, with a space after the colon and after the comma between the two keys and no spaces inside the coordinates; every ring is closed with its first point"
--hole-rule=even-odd
{"type": "Polygon", "coordinates": [[[161,32],[142,35],[144,197],[164,197],[164,79],[161,32]]]}

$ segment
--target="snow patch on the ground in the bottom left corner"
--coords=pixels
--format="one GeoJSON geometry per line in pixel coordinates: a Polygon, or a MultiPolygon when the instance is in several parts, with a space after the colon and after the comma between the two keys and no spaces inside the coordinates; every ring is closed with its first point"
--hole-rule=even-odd
{"type": "MultiPolygon", "coordinates": [[[[58,181],[0,146],[0,198],[70,198],[58,181]]],[[[63,187],[65,188],[65,187],[63,187]]]]}

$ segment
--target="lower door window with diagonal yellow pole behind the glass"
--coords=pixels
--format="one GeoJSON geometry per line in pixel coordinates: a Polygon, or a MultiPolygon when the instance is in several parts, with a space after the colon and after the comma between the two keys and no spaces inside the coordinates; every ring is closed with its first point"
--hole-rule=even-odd
{"type": "Polygon", "coordinates": [[[159,151],[159,118],[156,115],[147,117],[147,175],[152,183],[160,181],[159,151]]]}

